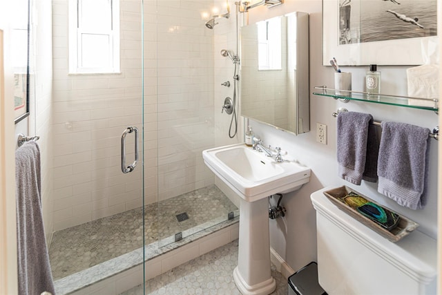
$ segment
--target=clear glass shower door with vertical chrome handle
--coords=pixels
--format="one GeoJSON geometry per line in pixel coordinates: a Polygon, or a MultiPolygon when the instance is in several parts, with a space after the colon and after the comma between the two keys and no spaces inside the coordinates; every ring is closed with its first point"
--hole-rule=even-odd
{"type": "MultiPolygon", "coordinates": [[[[75,282],[75,291],[142,263],[144,97],[142,0],[94,1],[119,10],[120,69],[75,75],[68,63],[70,2],[52,0],[50,264],[56,285],[75,282]]],[[[142,283],[143,273],[136,276],[142,283]]]]}

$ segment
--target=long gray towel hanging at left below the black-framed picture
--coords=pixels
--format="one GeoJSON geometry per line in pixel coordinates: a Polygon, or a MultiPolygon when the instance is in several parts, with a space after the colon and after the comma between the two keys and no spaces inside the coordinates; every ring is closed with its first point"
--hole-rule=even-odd
{"type": "Polygon", "coordinates": [[[41,214],[40,150],[28,142],[15,151],[19,294],[55,294],[41,214]]]}

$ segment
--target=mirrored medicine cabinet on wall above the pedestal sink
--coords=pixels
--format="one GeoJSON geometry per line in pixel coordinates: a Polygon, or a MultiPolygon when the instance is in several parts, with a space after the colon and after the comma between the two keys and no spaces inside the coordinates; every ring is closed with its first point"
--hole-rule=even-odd
{"type": "Polygon", "coordinates": [[[310,131],[309,15],[241,28],[241,115],[294,134],[310,131]]]}

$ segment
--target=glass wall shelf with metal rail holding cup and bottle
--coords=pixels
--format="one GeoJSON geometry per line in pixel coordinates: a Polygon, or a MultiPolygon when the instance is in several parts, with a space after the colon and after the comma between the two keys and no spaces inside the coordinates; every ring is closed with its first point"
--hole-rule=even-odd
{"type": "Polygon", "coordinates": [[[389,104],[391,106],[419,108],[421,110],[434,111],[436,113],[439,111],[439,99],[423,99],[419,97],[406,97],[399,95],[372,94],[360,91],[343,91],[327,88],[327,86],[315,86],[315,89],[318,91],[314,91],[314,95],[333,97],[334,99],[341,99],[344,102],[357,100],[360,102],[373,102],[375,104],[389,104]],[[339,94],[336,94],[336,92],[339,94]]]}

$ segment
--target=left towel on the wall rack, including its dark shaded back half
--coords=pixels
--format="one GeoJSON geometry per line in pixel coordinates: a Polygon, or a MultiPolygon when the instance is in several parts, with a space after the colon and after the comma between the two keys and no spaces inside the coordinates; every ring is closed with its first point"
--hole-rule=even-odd
{"type": "Polygon", "coordinates": [[[338,115],[337,158],[340,178],[360,185],[376,182],[378,144],[372,115],[343,112],[338,115]]]}

